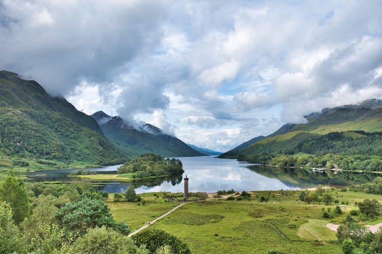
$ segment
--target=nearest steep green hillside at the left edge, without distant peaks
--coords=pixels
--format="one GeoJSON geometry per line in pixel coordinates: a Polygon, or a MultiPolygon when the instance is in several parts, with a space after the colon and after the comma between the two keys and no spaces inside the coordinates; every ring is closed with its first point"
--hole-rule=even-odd
{"type": "Polygon", "coordinates": [[[60,168],[122,163],[97,122],[35,81],[0,71],[0,167],[60,168]]]}

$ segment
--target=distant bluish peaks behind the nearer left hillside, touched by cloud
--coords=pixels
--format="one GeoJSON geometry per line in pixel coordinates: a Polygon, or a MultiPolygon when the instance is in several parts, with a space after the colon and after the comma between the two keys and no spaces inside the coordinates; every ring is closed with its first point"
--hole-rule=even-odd
{"type": "Polygon", "coordinates": [[[155,153],[164,157],[204,156],[180,139],[164,134],[161,129],[146,124],[131,126],[120,117],[110,117],[102,111],[91,115],[102,128],[109,141],[129,156],[155,153]]]}

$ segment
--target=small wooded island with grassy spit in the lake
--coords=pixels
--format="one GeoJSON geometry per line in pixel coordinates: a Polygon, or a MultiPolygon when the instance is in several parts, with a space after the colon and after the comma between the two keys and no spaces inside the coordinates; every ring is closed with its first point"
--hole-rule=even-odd
{"type": "Polygon", "coordinates": [[[71,177],[93,180],[133,181],[181,175],[183,172],[183,165],[179,159],[164,159],[160,155],[146,153],[125,162],[118,168],[117,174],[85,174],[84,172],[84,174],[72,174],[71,177]]]}

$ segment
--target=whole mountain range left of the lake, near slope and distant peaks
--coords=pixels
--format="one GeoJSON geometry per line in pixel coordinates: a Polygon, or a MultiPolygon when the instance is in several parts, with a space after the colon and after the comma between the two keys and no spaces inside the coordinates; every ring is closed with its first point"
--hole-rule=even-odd
{"type": "Polygon", "coordinates": [[[152,125],[135,129],[103,112],[88,116],[36,81],[0,71],[0,168],[122,164],[148,152],[205,155],[152,125]]]}

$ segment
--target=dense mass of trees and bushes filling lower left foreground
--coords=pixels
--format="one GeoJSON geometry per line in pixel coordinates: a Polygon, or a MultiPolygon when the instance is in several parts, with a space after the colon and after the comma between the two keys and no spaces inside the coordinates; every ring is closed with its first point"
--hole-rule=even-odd
{"type": "Polygon", "coordinates": [[[0,185],[0,253],[190,254],[162,230],[127,238],[131,231],[114,221],[107,197],[86,185],[25,184],[9,174],[0,185]]]}

